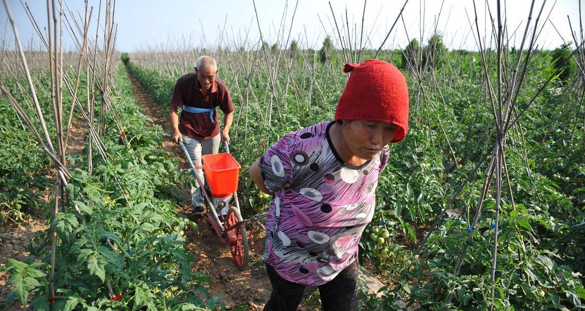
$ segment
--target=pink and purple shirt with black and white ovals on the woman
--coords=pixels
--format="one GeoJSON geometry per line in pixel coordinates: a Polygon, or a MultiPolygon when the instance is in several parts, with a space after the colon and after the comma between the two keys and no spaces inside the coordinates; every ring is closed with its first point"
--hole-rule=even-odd
{"type": "Polygon", "coordinates": [[[262,259],[288,281],[325,284],[357,258],[362,231],[374,215],[375,191],[388,146],[359,167],[345,163],[322,122],[278,140],[260,158],[274,192],[262,259]]]}

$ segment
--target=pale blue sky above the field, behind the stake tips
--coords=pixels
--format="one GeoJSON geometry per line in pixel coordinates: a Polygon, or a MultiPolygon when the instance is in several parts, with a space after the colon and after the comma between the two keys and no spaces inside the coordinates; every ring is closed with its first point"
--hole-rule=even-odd
{"type": "MultiPolygon", "coordinates": [[[[42,25],[41,27],[46,26],[46,1],[33,0],[27,3],[32,9],[37,23],[42,25]]],[[[95,27],[99,1],[89,0],[88,3],[90,6],[94,6],[92,25],[95,27]]],[[[297,40],[302,48],[318,49],[326,35],[332,36],[333,42],[336,45],[339,44],[328,1],[299,0],[297,12],[292,20],[292,12],[296,3],[295,1],[256,0],[256,9],[264,41],[270,44],[284,45],[292,23],[290,40],[297,40]],[[285,13],[284,19],[283,13],[285,13]],[[319,18],[321,22],[319,22],[319,18]]],[[[20,1],[8,0],[8,4],[19,29],[21,40],[23,42],[35,40],[36,33],[33,32],[20,1]]],[[[84,14],[84,1],[70,0],[67,4],[72,11],[84,14]]],[[[365,46],[374,49],[380,46],[403,4],[404,0],[367,0],[363,39],[365,46]]],[[[407,38],[417,37],[420,40],[421,34],[423,41],[425,41],[435,29],[435,20],[438,17],[436,29],[444,34],[443,41],[450,49],[476,49],[475,29],[473,28],[472,32],[472,27],[467,19],[469,15],[473,23],[472,0],[445,0],[441,15],[439,15],[441,4],[442,1],[438,0],[409,0],[404,9],[404,24],[402,20],[398,21],[384,47],[404,47],[408,43],[407,38]],[[421,30],[420,25],[423,26],[423,30],[421,30]]],[[[496,2],[490,1],[489,4],[492,14],[495,16],[496,2]]],[[[555,4],[555,1],[549,0],[543,9],[542,19],[548,15],[553,4],[555,7],[550,13],[549,19],[562,36],[569,40],[571,37],[567,15],[571,19],[573,29],[578,30],[579,2],[578,0],[558,0],[555,4]]],[[[340,31],[345,33],[345,39],[347,39],[345,23],[347,9],[350,36],[353,38],[352,45],[356,42],[359,43],[364,2],[332,0],[331,5],[340,31]],[[355,39],[356,35],[357,39],[355,39]]],[[[483,1],[476,1],[476,5],[480,32],[483,36],[486,10],[483,1]]],[[[530,2],[527,0],[507,1],[506,5],[509,33],[511,39],[515,39],[515,45],[519,46],[530,2]],[[514,30],[515,33],[512,35],[514,30]]],[[[541,5],[542,1],[537,1],[535,4],[533,23],[541,5]]],[[[103,14],[104,8],[102,7],[102,16],[103,14]]],[[[5,37],[12,38],[12,27],[6,23],[7,20],[4,5],[0,5],[0,31],[3,34],[6,33],[5,37]],[[8,27],[6,32],[5,27],[8,27]]],[[[116,1],[115,22],[118,24],[116,48],[120,51],[152,50],[162,47],[174,50],[201,46],[213,49],[220,43],[224,47],[227,45],[233,49],[242,46],[245,42],[246,48],[249,49],[254,47],[260,38],[252,0],[118,0],[116,1]],[[246,35],[247,40],[245,39],[246,35]]],[[[545,23],[538,41],[539,46],[544,49],[554,49],[562,43],[559,34],[553,29],[552,23],[545,23]]],[[[488,23],[487,26],[491,27],[488,23]]],[[[92,37],[95,37],[95,28],[91,33],[92,37]]],[[[66,33],[65,36],[66,49],[73,49],[68,34],[66,33]]],[[[290,40],[288,41],[290,42],[290,40]]]]}

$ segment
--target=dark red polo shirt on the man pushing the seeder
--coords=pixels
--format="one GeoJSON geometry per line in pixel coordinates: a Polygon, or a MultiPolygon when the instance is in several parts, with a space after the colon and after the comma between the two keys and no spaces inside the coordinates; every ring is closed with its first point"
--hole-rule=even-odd
{"type": "Polygon", "coordinates": [[[190,113],[183,110],[179,119],[179,131],[182,134],[194,139],[210,139],[219,134],[218,114],[215,107],[219,106],[219,109],[225,114],[233,112],[235,109],[233,108],[232,98],[229,96],[228,87],[219,78],[215,78],[215,82],[207,95],[203,95],[200,88],[201,84],[199,84],[197,74],[194,72],[179,78],[173,91],[171,106],[183,108],[183,105],[187,105],[196,108],[214,109],[215,123],[211,122],[207,112],[190,113]]]}

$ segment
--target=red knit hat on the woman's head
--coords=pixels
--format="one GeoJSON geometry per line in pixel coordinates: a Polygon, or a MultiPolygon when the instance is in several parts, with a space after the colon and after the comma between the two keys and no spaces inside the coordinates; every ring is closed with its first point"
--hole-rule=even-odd
{"type": "Polygon", "coordinates": [[[381,60],[348,63],[343,72],[352,75],[335,108],[335,120],[392,123],[398,126],[392,142],[404,139],[408,131],[408,87],[402,72],[381,60]]]}

